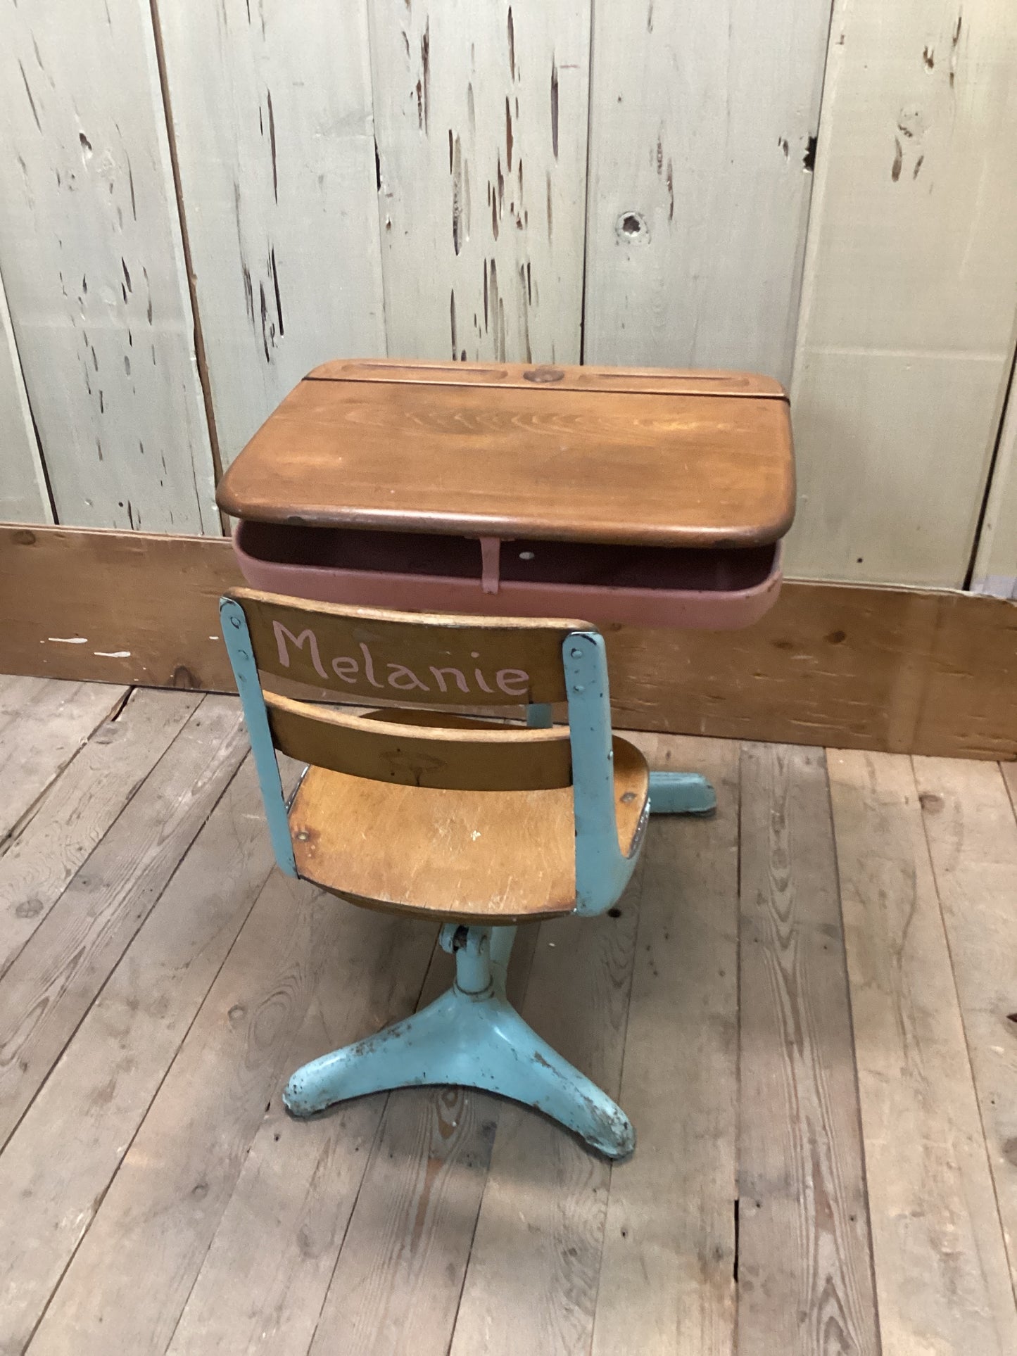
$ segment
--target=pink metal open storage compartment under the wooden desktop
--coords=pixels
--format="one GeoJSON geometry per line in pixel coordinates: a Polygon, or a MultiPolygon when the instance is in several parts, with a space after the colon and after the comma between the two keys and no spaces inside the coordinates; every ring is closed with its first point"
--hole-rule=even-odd
{"type": "Polygon", "coordinates": [[[757,621],[781,584],[778,545],[503,541],[481,564],[476,538],[267,522],[241,522],[233,545],[255,589],[418,612],[727,631],[757,621]]]}

